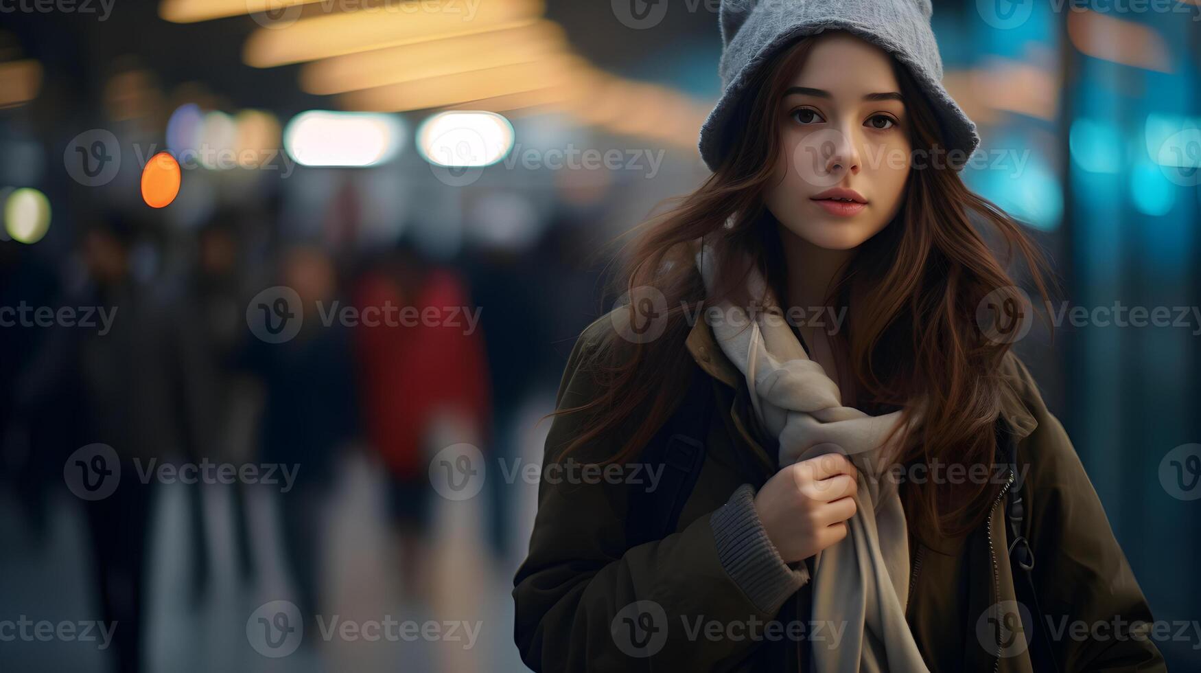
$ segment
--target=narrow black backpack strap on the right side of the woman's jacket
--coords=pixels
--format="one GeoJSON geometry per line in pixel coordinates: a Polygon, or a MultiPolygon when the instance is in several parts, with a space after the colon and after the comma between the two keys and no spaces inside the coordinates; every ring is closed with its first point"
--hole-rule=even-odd
{"type": "MultiPolygon", "coordinates": [[[[1023,625],[1023,631],[1030,648],[1030,662],[1035,671],[1050,669],[1058,673],[1054,654],[1051,651],[1051,633],[1047,630],[1046,617],[1039,606],[1039,592],[1034,588],[1034,549],[1026,538],[1026,501],[1023,498],[1023,472],[1017,464],[1017,442],[1004,422],[998,422],[997,446],[1005,452],[1009,470],[1014,475],[1014,484],[1009,489],[1009,501],[1005,505],[1005,519],[1009,522],[1009,565],[1014,573],[1014,589],[1020,603],[1030,611],[1030,618],[1038,623],[1038,629],[1023,625]],[[1036,637],[1035,637],[1036,635],[1036,637]],[[1040,666],[1041,665],[1041,666],[1040,666]]],[[[1021,615],[1018,615],[1021,617],[1021,615]]]]}

